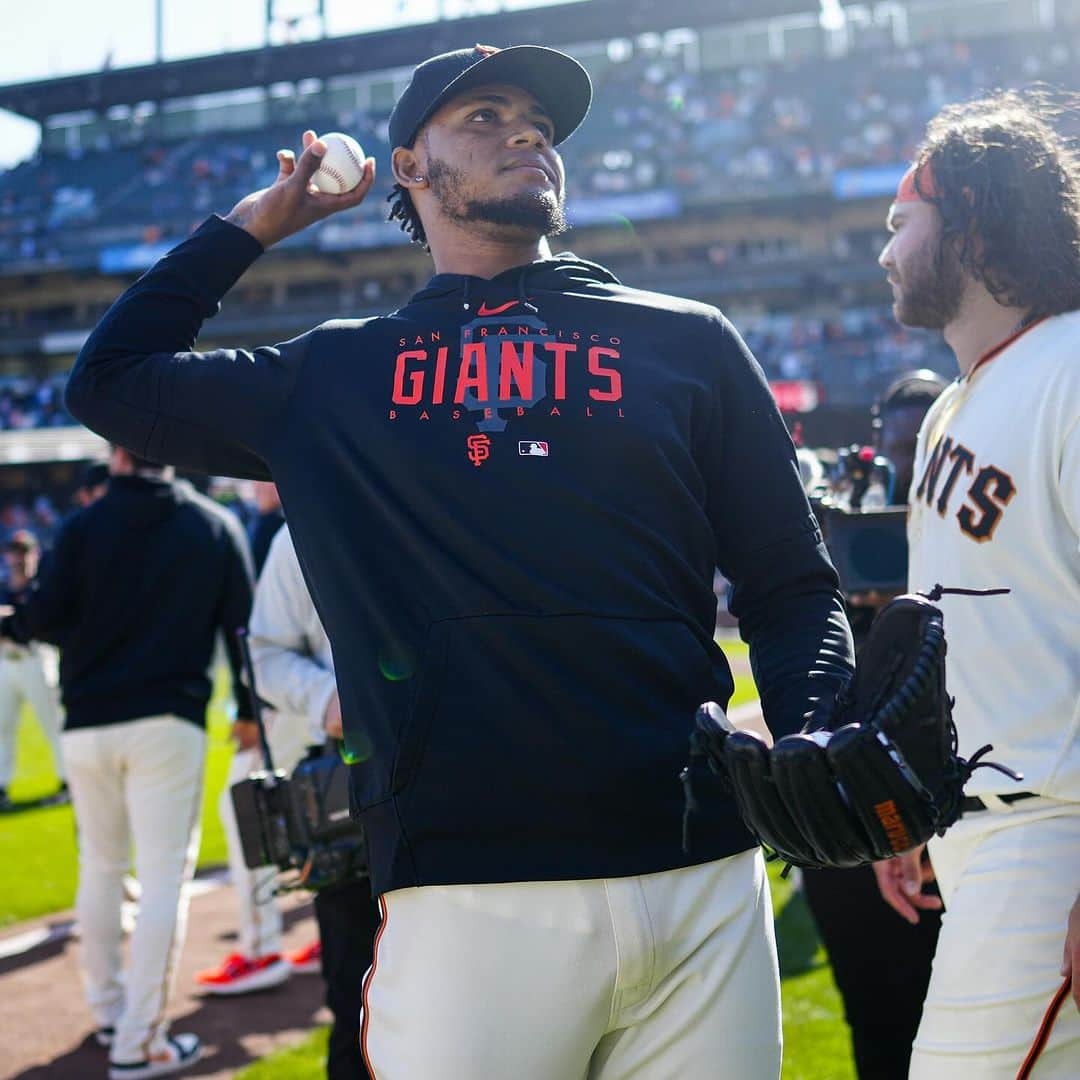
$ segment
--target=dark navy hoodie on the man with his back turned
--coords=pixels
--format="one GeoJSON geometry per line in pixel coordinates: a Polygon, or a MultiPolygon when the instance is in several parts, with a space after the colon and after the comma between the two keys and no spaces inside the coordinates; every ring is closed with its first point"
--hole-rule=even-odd
{"type": "Polygon", "coordinates": [[[218,633],[238,713],[252,716],[234,636],[251,610],[251,556],[233,514],[185,481],[113,476],[65,523],[2,625],[15,640],[60,647],[66,730],[166,713],[202,727],[218,633]]]}

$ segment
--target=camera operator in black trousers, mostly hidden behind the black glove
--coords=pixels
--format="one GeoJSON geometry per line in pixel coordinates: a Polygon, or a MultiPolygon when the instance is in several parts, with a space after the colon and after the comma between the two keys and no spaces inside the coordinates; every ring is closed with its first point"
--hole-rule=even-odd
{"type": "MultiPolygon", "coordinates": [[[[864,455],[861,464],[868,468],[856,488],[870,489],[870,470],[883,458],[887,464],[876,468],[891,471],[892,483],[886,485],[892,488],[891,500],[906,503],[919,424],[946,386],[947,380],[935,372],[921,369],[902,376],[886,390],[872,409],[875,453],[864,455]]],[[[855,513],[865,507],[863,494],[856,489],[851,499],[855,513]]],[[[823,501],[827,507],[832,500],[826,495],[823,501]]],[[[840,586],[845,589],[842,575],[840,586]]],[[[856,658],[875,615],[900,591],[845,591],[856,658]]],[[[930,875],[929,864],[923,872],[930,875]]],[[[869,866],[805,870],[802,880],[843,999],[859,1076],[862,1080],[906,1080],[941,915],[928,910],[918,926],[905,922],[881,899],[869,866]],[[889,1009],[882,1011],[885,997],[889,1009]]]]}

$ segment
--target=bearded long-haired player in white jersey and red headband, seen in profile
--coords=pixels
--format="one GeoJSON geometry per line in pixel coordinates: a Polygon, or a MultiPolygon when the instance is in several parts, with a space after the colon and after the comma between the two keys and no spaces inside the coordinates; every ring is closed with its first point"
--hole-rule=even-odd
{"type": "MultiPolygon", "coordinates": [[[[930,843],[945,915],[910,1076],[1075,1080],[1080,1014],[1055,1007],[1080,887],[1080,164],[1038,97],[953,106],[889,228],[897,320],[960,368],[919,432],[909,583],[1009,590],[940,604],[960,754],[993,743],[1024,773],[976,772],[930,843]]],[[[918,852],[875,869],[909,921],[939,905],[918,852]]]]}

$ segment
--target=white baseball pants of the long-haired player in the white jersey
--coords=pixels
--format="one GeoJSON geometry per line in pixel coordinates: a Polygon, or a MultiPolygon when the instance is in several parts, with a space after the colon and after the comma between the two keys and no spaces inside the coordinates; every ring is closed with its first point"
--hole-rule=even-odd
{"type": "MultiPolygon", "coordinates": [[[[1059,974],[1080,890],[1080,804],[998,801],[930,841],[945,915],[912,1080],[1014,1080],[1059,974]]],[[[1080,1013],[1066,998],[1032,1080],[1080,1077],[1080,1013]]]]}

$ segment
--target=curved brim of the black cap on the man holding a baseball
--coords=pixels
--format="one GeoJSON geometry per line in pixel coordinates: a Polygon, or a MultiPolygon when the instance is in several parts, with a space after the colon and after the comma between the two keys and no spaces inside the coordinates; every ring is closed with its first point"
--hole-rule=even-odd
{"type": "Polygon", "coordinates": [[[593,100],[589,72],[572,56],[543,45],[511,45],[462,71],[431,103],[417,131],[462,91],[498,82],[527,90],[544,107],[555,125],[555,146],[577,131],[593,100]]]}

